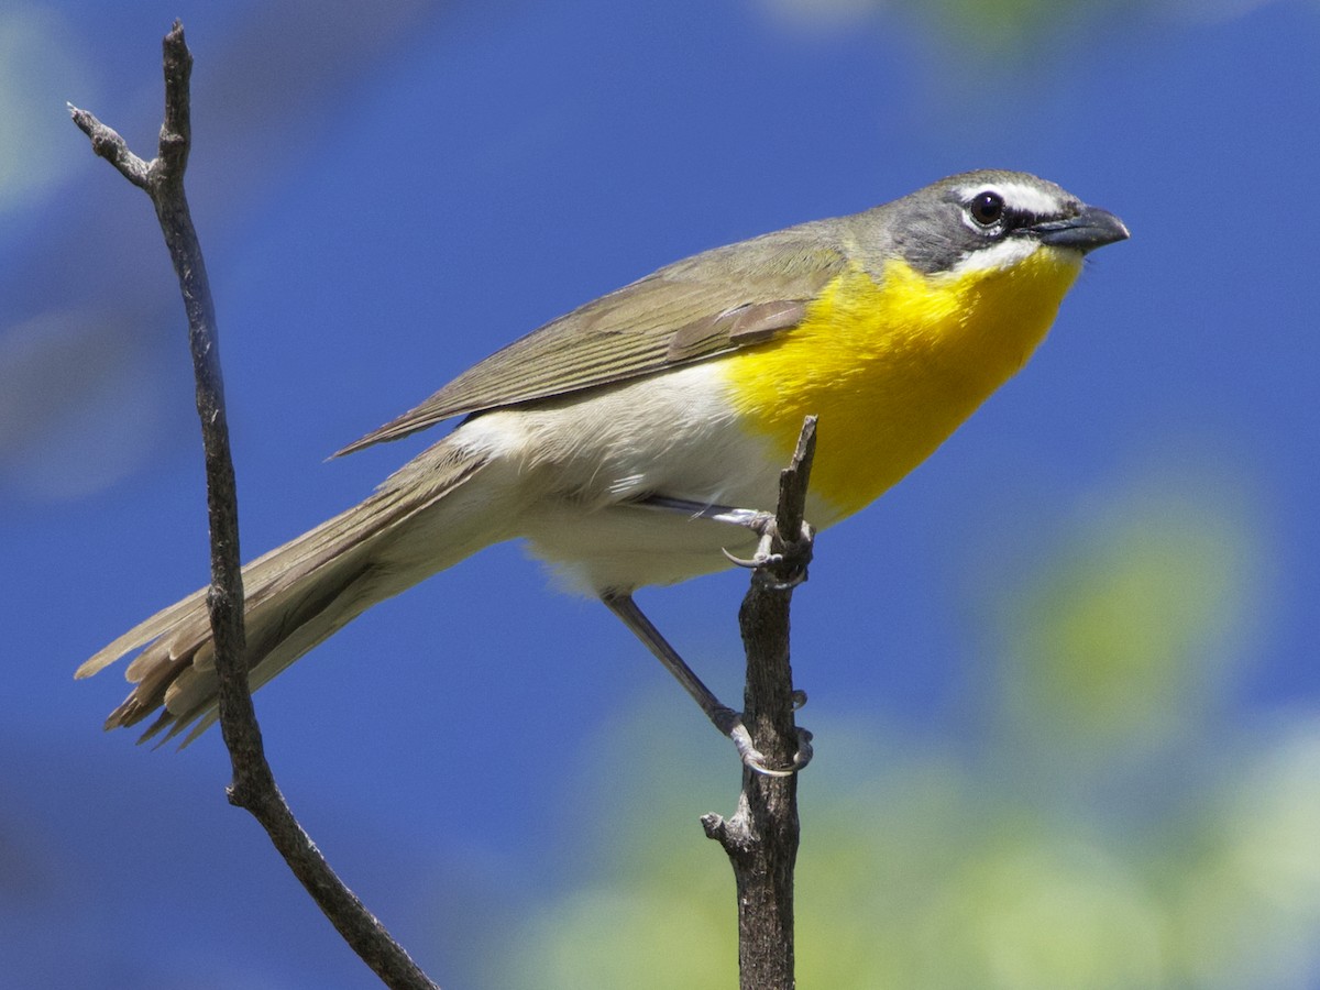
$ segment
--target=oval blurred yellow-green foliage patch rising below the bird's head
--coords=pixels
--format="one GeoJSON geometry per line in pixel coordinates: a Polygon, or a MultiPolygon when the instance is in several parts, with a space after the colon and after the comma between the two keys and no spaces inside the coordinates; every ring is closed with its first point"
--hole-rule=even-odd
{"type": "Polygon", "coordinates": [[[1259,539],[1230,500],[1173,486],[1069,527],[1027,579],[991,591],[1005,733],[1038,747],[1138,750],[1195,731],[1239,667],[1259,539]]]}

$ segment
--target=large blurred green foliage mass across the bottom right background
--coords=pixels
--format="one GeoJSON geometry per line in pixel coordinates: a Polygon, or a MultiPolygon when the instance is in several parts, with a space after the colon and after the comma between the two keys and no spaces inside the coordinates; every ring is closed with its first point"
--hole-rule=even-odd
{"type": "MultiPolygon", "coordinates": [[[[1088,515],[1018,585],[986,569],[978,642],[999,648],[942,734],[813,723],[832,755],[801,791],[801,986],[1315,986],[1320,713],[1221,717],[1265,539],[1213,486],[1088,515]]],[[[664,759],[597,768],[582,883],[491,986],[737,985],[733,879],[696,825],[733,796],[678,779],[682,743],[640,721],[634,752],[664,759]]]]}

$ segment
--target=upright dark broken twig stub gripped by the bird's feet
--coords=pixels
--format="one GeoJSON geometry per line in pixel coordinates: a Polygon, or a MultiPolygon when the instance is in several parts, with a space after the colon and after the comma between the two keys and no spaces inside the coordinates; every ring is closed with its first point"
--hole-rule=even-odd
{"type": "MultiPolygon", "coordinates": [[[[793,690],[788,607],[793,589],[807,579],[812,556],[810,527],[803,515],[814,450],[816,417],[808,416],[793,459],[780,473],[772,556],[752,574],[738,612],[747,653],[743,725],[772,767],[801,767],[810,755],[810,733],[793,721],[807,696],[793,690]]],[[[738,810],[730,818],[706,814],[701,824],[734,869],[739,986],[792,990],[797,775],[767,776],[744,767],[738,810]]]]}

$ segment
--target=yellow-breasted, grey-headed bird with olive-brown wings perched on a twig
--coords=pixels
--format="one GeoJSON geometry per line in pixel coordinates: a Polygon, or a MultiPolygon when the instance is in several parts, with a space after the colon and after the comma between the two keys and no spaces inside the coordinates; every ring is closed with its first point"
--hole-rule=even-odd
{"type": "MultiPolygon", "coordinates": [[[[808,416],[807,519],[875,502],[1015,375],[1114,214],[1024,172],[982,169],[888,203],[676,261],[510,343],[335,457],[461,421],[367,499],[243,568],[253,689],[371,606],[484,546],[524,540],[599,598],[743,762],[738,713],[634,601],[752,550],[808,416]]],[[[143,739],[216,718],[206,590],[83,663],[140,651],[106,719],[143,739]]]]}

